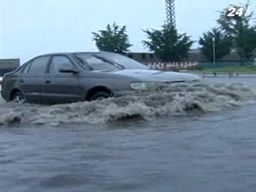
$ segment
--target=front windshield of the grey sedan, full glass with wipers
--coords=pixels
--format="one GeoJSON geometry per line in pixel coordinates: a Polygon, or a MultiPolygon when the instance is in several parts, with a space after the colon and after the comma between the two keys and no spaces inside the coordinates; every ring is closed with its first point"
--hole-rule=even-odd
{"type": "Polygon", "coordinates": [[[113,53],[75,54],[77,60],[91,70],[148,69],[142,63],[113,53]]]}

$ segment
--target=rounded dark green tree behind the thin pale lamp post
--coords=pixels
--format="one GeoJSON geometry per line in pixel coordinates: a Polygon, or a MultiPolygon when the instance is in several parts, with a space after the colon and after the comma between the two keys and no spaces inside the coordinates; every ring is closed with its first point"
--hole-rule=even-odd
{"type": "Polygon", "coordinates": [[[230,54],[232,40],[218,28],[213,28],[212,31],[204,33],[203,37],[199,40],[199,44],[201,44],[201,52],[207,57],[208,61],[213,61],[212,38],[215,39],[216,61],[222,59],[224,55],[230,54]]]}

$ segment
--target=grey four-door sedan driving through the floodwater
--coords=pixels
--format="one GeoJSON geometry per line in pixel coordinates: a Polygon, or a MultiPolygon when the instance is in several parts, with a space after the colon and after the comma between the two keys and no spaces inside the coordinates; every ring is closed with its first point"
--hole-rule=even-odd
{"type": "Polygon", "coordinates": [[[59,53],[37,56],[4,75],[1,94],[7,102],[93,101],[195,80],[200,78],[150,70],[142,63],[109,52],[59,53]]]}

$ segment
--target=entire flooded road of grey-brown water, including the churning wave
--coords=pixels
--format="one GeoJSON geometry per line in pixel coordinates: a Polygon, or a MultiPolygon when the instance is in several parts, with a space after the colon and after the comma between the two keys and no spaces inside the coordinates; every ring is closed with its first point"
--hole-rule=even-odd
{"type": "Polygon", "coordinates": [[[0,102],[0,189],[255,191],[256,79],[206,81],[101,102],[0,102]]]}

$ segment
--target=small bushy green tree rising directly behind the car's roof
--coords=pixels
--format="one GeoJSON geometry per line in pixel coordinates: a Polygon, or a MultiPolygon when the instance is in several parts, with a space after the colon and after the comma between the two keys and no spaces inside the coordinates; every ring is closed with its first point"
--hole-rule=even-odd
{"type": "Polygon", "coordinates": [[[131,47],[126,34],[126,26],[117,26],[115,23],[112,26],[108,24],[106,30],[100,30],[98,33],[92,32],[92,34],[99,50],[123,54],[131,47]]]}

